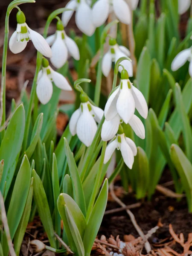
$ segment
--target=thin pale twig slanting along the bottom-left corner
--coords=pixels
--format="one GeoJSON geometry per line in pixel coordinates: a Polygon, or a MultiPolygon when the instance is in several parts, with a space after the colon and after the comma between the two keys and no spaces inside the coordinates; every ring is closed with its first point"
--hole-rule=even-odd
{"type": "Polygon", "coordinates": [[[9,232],[9,226],[8,226],[8,222],[7,222],[5,204],[4,204],[3,195],[1,194],[1,192],[0,192],[0,207],[1,207],[1,218],[2,218],[3,226],[4,226],[6,237],[7,237],[9,252],[10,252],[11,256],[16,256],[15,250],[13,248],[10,232],[9,232]]]}

